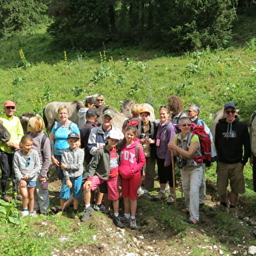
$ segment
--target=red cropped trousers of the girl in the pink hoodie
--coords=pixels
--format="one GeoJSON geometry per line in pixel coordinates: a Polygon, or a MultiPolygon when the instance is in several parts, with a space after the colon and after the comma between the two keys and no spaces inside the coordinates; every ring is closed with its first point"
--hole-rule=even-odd
{"type": "Polygon", "coordinates": [[[121,178],[122,197],[137,198],[137,189],[141,184],[141,172],[138,171],[132,178],[121,178]]]}

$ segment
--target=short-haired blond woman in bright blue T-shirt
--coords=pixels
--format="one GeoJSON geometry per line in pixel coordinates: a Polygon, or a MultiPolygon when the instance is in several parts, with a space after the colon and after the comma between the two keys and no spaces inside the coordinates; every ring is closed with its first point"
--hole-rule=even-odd
{"type": "Polygon", "coordinates": [[[51,129],[50,138],[54,142],[53,156],[51,160],[56,167],[57,175],[60,180],[63,180],[63,170],[61,169],[61,156],[64,149],[68,149],[68,134],[76,132],[79,134],[78,125],[68,120],[69,110],[66,106],[60,106],[58,109],[58,115],[60,122],[55,122],[55,125],[51,129]]]}

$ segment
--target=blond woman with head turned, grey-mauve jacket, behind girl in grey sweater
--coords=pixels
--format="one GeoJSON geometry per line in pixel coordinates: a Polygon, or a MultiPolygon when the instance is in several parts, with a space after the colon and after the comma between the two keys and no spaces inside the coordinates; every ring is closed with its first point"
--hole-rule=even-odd
{"type": "Polygon", "coordinates": [[[32,149],[39,154],[40,174],[36,180],[36,189],[34,194],[34,210],[40,214],[47,214],[49,207],[49,193],[47,189],[42,189],[42,182],[46,182],[48,169],[51,164],[51,142],[42,130],[44,130],[44,120],[42,117],[31,117],[28,122],[28,130],[33,139],[32,149]],[[46,136],[46,139],[43,137],[46,136]],[[43,145],[42,145],[43,143],[43,145]]]}

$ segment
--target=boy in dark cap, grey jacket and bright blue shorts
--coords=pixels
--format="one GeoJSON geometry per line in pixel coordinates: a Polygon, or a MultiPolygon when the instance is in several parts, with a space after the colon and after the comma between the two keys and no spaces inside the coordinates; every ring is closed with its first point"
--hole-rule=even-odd
{"type": "Polygon", "coordinates": [[[78,218],[78,203],[82,198],[81,184],[83,175],[83,158],[85,152],[80,149],[79,135],[75,132],[68,134],[69,148],[63,151],[61,157],[61,169],[63,169],[63,183],[61,186],[61,212],[65,213],[66,201],[70,197],[70,189],[73,188],[74,197],[74,211],[72,213],[73,218],[78,218]]]}

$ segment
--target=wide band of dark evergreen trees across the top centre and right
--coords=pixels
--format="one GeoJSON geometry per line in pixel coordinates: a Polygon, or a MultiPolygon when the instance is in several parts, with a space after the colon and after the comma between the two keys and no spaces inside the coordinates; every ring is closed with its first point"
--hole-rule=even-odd
{"type": "Polygon", "coordinates": [[[64,47],[145,42],[171,51],[227,46],[236,0],[56,0],[51,35],[64,47]],[[78,39],[79,38],[79,39],[78,39]]]}

